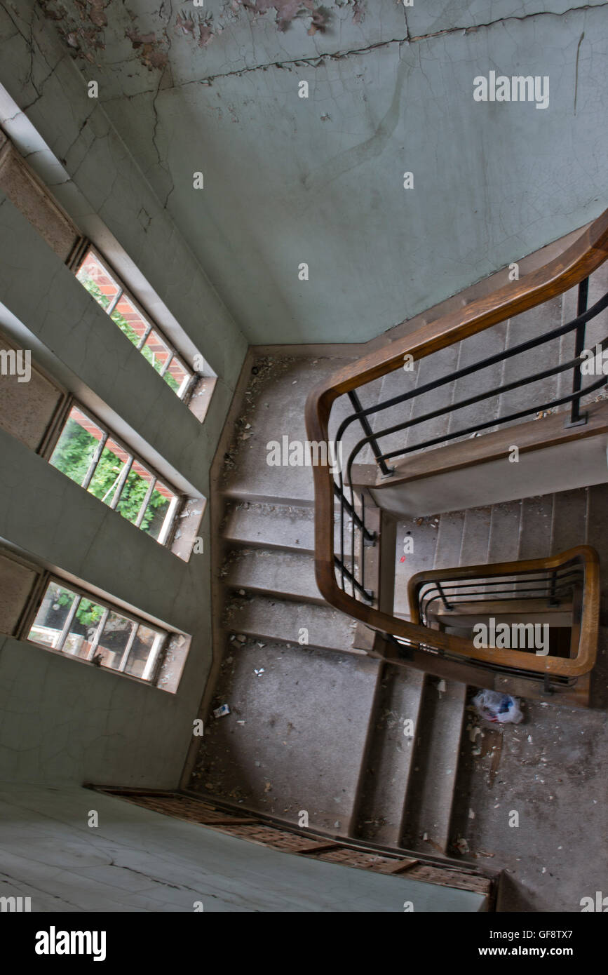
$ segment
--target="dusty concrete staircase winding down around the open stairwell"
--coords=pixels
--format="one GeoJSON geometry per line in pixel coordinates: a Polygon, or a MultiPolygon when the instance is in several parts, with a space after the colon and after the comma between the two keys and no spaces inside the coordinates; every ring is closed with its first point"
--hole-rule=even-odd
{"type": "MultiPolygon", "coordinates": [[[[589,302],[606,291],[607,268],[591,277],[589,302]]],[[[421,360],[415,379],[393,370],[368,381],[360,390],[362,406],[399,395],[408,381],[421,388],[433,373],[431,364],[448,374],[466,368],[474,344],[479,359],[569,321],[576,314],[576,294],[565,292],[544,307],[549,308],[549,320],[532,308],[421,360]]],[[[602,320],[589,327],[588,344],[606,332],[605,317],[602,313],[602,320]]],[[[562,361],[572,356],[563,340],[559,355],[562,361]]],[[[468,814],[471,772],[463,769],[463,754],[471,748],[467,709],[475,687],[367,655],[356,614],[327,604],[317,585],[311,470],[267,462],[270,442],[284,435],[290,441],[307,440],[309,390],[337,370],[347,373],[353,362],[330,356],[260,356],[252,361],[247,388],[235,401],[228,424],[232,441],[211,494],[217,526],[214,630],[221,666],[209,704],[210,710],[228,704],[230,714],[206,723],[189,788],[291,824],[298,824],[305,812],[311,827],[331,836],[449,859],[463,852],[455,841],[468,814]]],[[[501,363],[497,383],[510,381],[513,369],[512,360],[501,363]]],[[[547,395],[560,395],[564,381],[561,373],[553,377],[547,395]]],[[[476,383],[475,375],[461,377],[416,395],[405,406],[388,409],[382,425],[402,422],[423,409],[423,398],[425,412],[462,400],[475,391],[476,383]]],[[[523,394],[504,395],[513,409],[523,394]]],[[[500,404],[495,408],[484,415],[498,416],[500,404]]],[[[478,413],[469,412],[473,422],[478,413]]],[[[337,401],[330,436],[348,413],[348,404],[337,401]]],[[[376,414],[370,423],[373,430],[378,428],[376,414]]],[[[450,413],[429,423],[427,439],[453,429],[450,413]]],[[[409,428],[407,445],[417,444],[420,436],[409,428]]],[[[360,439],[361,428],[353,424],[343,438],[345,455],[360,439]]],[[[382,447],[402,443],[398,432],[382,447]]],[[[358,462],[371,460],[369,445],[358,462]]],[[[541,559],[587,543],[598,549],[605,573],[606,500],[608,486],[599,484],[399,517],[395,552],[388,555],[395,566],[394,600],[383,611],[409,619],[407,583],[422,570],[541,559]]],[[[333,551],[341,556],[337,514],[333,551]]],[[[367,550],[368,588],[375,585],[377,551],[378,546],[367,550]]],[[[355,565],[361,570],[357,550],[355,565]]],[[[605,581],[601,579],[602,588],[605,581]]],[[[603,641],[603,628],[601,636],[603,641]]],[[[592,699],[603,695],[605,700],[603,654],[593,678],[592,699]]]]}

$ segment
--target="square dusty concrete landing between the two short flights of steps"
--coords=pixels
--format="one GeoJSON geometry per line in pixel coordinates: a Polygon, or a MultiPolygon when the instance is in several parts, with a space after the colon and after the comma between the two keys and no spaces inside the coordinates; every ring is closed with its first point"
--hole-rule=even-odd
{"type": "Polygon", "coordinates": [[[377,668],[328,650],[229,643],[213,707],[231,713],[206,728],[197,787],[291,823],[306,810],[311,825],[346,833],[377,668]]]}

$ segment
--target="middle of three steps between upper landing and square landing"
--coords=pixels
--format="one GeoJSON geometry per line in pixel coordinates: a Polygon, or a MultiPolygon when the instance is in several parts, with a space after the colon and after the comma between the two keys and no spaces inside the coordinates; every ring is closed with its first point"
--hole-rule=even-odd
{"type": "Polygon", "coordinates": [[[230,589],[323,604],[312,555],[280,549],[234,549],[225,567],[224,581],[230,589]]]}

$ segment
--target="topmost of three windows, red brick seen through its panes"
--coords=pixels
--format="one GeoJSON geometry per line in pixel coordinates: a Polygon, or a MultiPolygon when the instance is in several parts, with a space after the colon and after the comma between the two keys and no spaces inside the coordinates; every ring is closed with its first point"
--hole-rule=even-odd
{"type": "Polygon", "coordinates": [[[76,277],[175,395],[183,400],[192,388],[194,373],[185,367],[171,342],[160,329],[152,326],[122,282],[92,248],[85,254],[76,277]]]}

